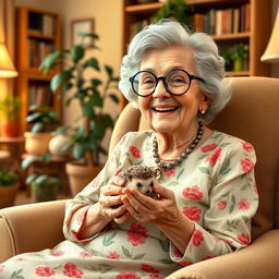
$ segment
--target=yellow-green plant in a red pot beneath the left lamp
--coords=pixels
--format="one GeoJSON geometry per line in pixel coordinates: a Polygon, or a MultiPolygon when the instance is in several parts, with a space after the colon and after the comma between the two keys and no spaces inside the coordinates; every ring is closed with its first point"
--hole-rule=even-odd
{"type": "Polygon", "coordinates": [[[16,137],[20,134],[20,110],[21,99],[7,95],[0,101],[0,111],[2,112],[2,134],[7,137],[16,137]]]}

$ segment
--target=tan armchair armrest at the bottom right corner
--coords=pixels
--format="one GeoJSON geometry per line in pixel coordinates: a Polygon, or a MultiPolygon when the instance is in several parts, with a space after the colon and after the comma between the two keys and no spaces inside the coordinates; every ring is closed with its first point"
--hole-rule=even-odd
{"type": "Polygon", "coordinates": [[[270,230],[248,247],[181,268],[166,279],[277,279],[279,230],[270,230]]]}

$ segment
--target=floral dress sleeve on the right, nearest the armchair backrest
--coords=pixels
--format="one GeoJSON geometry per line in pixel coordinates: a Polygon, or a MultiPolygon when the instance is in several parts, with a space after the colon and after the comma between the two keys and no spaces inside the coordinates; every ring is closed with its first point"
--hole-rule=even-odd
{"type": "MultiPolygon", "coordinates": [[[[251,221],[258,206],[254,148],[248,143],[240,142],[228,148],[210,178],[209,206],[203,227],[195,222],[184,255],[171,244],[171,259],[181,265],[227,254],[251,242],[251,221]]],[[[210,177],[210,171],[204,175],[210,177]]]]}

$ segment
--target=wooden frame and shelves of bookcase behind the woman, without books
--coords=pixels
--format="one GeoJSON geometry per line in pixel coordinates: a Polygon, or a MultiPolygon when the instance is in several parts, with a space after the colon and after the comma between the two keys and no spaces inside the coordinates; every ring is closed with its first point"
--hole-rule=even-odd
{"type": "MultiPolygon", "coordinates": [[[[208,14],[209,11],[241,10],[247,5],[246,29],[213,35],[213,38],[220,48],[228,48],[234,44],[245,44],[248,47],[246,71],[228,72],[228,75],[270,75],[270,65],[260,62],[260,56],[264,53],[271,29],[271,0],[186,0],[185,2],[194,7],[194,16],[208,14]]],[[[135,23],[148,24],[148,20],[162,4],[156,1],[137,4],[136,0],[123,0],[123,54],[126,52],[131,33],[134,33],[135,23]]]]}

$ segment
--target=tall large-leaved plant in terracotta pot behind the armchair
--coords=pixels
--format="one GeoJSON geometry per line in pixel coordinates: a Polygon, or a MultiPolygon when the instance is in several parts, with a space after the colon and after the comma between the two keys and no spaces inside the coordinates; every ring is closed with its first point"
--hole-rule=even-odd
{"type": "MultiPolygon", "coordinates": [[[[83,38],[90,37],[98,39],[93,33],[81,34],[83,38]]],[[[41,63],[40,69],[47,73],[57,64],[68,65],[51,80],[52,92],[63,87],[62,98],[69,106],[75,100],[80,105],[83,124],[76,128],[62,126],[56,134],[66,133],[70,135],[66,148],[72,148],[72,157],[75,161],[66,163],[72,195],[80,192],[102,168],[100,155],[107,155],[102,147],[102,140],[106,132],[112,129],[114,120],[104,111],[107,99],[118,104],[119,98],[114,94],[119,77],[109,65],[101,66],[95,57],[89,56],[97,48],[94,45],[73,46],[71,49],[63,49],[49,54],[41,63]],[[87,53],[88,52],[88,53],[87,53]],[[99,78],[104,70],[106,81],[99,78]],[[92,74],[85,74],[92,71],[92,74]],[[71,89],[72,95],[69,95],[71,89]]]]}

